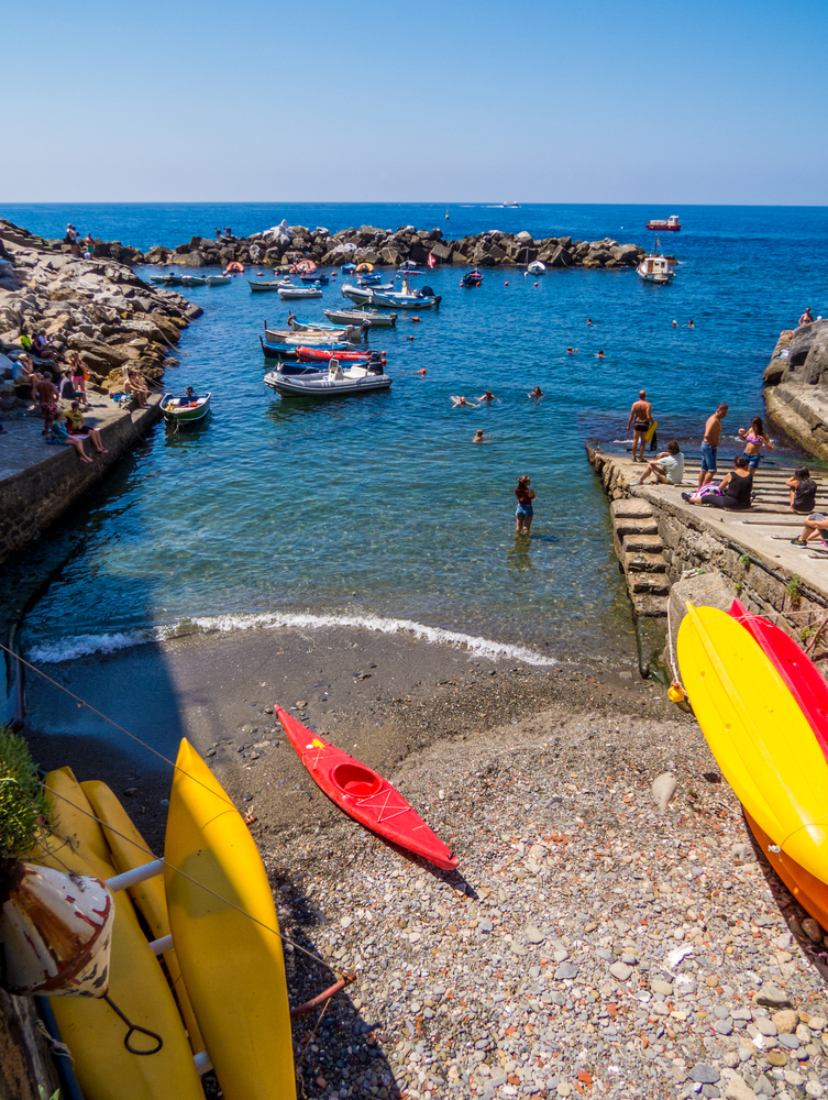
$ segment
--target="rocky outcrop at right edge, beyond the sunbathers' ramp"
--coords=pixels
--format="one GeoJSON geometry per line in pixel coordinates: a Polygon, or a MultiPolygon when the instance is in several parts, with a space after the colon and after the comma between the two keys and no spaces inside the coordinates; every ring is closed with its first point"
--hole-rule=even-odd
{"type": "Polygon", "coordinates": [[[783,332],[764,382],[769,418],[808,454],[828,462],[828,320],[783,332]]]}

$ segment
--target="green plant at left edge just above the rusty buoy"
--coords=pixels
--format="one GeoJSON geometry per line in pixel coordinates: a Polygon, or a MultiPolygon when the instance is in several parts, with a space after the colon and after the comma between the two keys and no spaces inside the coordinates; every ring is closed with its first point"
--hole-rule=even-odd
{"type": "Polygon", "coordinates": [[[25,856],[48,829],[51,814],[29,746],[0,726],[0,858],[25,856]]]}

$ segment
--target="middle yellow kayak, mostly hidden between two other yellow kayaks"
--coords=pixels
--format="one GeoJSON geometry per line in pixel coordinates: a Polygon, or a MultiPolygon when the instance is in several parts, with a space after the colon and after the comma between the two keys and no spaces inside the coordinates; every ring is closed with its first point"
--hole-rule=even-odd
{"type": "MultiPolygon", "coordinates": [[[[109,846],[110,861],[114,865],[115,871],[122,875],[131,871],[135,867],[143,867],[151,864],[155,856],[150,851],[146,840],[135,828],[132,818],[118,801],[114,793],[99,780],[88,780],[80,784],[84,794],[89,799],[89,803],[95,811],[98,821],[103,823],[103,836],[109,846]],[[109,827],[108,827],[109,826],[109,827]]],[[[169,935],[169,917],[167,915],[167,898],[164,893],[164,879],[157,875],[154,879],[146,879],[134,887],[129,888],[130,898],[137,911],[144,917],[150,927],[153,938],[161,939],[162,936],[169,935]]],[[[181,968],[178,966],[178,956],[175,948],[164,952],[164,963],[167,967],[169,980],[178,1001],[178,1007],[184,1016],[184,1023],[194,1053],[203,1050],[205,1043],[198,1030],[196,1015],[192,1011],[187,990],[181,981],[181,968]]]]}

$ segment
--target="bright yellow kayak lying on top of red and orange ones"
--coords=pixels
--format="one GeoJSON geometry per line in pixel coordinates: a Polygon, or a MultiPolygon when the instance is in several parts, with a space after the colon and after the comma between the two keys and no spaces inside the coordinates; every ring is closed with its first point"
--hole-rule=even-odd
{"type": "Polygon", "coordinates": [[[744,627],[714,607],[687,605],[677,649],[698,724],[739,801],[825,881],[828,761],[788,688],[744,627]]]}

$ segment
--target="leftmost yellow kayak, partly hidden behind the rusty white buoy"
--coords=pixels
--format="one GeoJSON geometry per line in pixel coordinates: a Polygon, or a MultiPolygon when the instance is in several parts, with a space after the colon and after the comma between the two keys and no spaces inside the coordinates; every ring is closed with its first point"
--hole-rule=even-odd
{"type": "MultiPolygon", "coordinates": [[[[56,826],[47,849],[42,846],[34,853],[35,861],[111,878],[115,870],[106,837],[70,769],[49,772],[46,788],[53,795],[56,826]]],[[[133,1023],[161,1035],[164,1045],[156,1054],[131,1054],[124,1046],[126,1025],[106,1001],[53,997],[51,1004],[84,1096],[86,1100],[203,1100],[192,1052],[161,964],[150,949],[126,892],[119,891],[114,900],[109,996],[133,1023]]],[[[131,1042],[139,1049],[155,1045],[140,1033],[131,1042]]]]}

